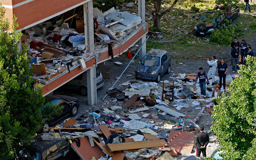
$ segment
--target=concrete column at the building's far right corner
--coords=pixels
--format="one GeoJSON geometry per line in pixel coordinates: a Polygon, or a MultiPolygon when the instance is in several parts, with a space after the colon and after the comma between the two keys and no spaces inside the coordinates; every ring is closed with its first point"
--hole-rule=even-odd
{"type": "MultiPolygon", "coordinates": [[[[138,0],[138,15],[142,19],[142,23],[145,22],[145,0],[138,0]]],[[[146,35],[139,39],[139,48],[142,46],[142,43],[146,40],[146,35]]],[[[139,60],[142,60],[143,56],[146,54],[146,43],[139,50],[139,60]]]]}

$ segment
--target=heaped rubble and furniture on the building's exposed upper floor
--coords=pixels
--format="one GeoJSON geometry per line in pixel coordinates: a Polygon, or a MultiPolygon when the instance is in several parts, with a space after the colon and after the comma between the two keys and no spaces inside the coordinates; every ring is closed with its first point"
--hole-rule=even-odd
{"type": "Polygon", "coordinates": [[[89,54],[89,48],[85,46],[82,12],[78,9],[77,14],[69,18],[53,18],[23,30],[22,43],[29,47],[28,58],[31,60],[34,81],[46,85],[52,78],[70,72],[77,65],[84,70],[90,56],[128,39],[142,21],[135,13],[121,12],[114,7],[104,13],[93,8],[95,51],[89,54]],[[70,28],[74,27],[74,23],[76,28],[70,28]]]}

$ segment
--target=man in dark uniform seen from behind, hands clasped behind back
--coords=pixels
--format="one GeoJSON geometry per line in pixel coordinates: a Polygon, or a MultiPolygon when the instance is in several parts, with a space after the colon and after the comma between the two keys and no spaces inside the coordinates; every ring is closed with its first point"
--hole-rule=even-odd
{"type": "Polygon", "coordinates": [[[196,156],[200,157],[202,152],[203,157],[206,157],[206,146],[209,143],[209,135],[204,132],[204,125],[199,125],[200,133],[196,134],[196,156]]]}

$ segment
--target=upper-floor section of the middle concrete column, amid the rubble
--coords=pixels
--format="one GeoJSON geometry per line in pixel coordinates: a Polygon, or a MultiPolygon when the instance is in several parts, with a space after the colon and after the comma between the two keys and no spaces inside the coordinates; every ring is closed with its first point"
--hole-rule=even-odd
{"type": "Polygon", "coordinates": [[[85,45],[89,46],[87,52],[92,53],[94,50],[94,33],[93,33],[93,2],[89,1],[84,5],[84,33],[85,45]]]}

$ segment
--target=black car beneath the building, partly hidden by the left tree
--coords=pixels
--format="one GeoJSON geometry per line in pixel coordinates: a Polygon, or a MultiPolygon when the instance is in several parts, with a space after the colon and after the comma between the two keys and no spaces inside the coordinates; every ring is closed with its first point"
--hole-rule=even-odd
{"type": "MultiPolygon", "coordinates": [[[[78,111],[78,107],[80,105],[80,101],[75,97],[62,96],[62,95],[52,95],[45,96],[45,102],[43,107],[45,107],[46,103],[50,102],[53,105],[63,106],[62,113],[60,115],[56,115],[53,119],[44,119],[45,123],[43,127],[49,127],[53,123],[59,121],[63,117],[68,115],[75,116],[78,111]]],[[[43,132],[48,131],[48,129],[43,128],[43,132]]]]}

